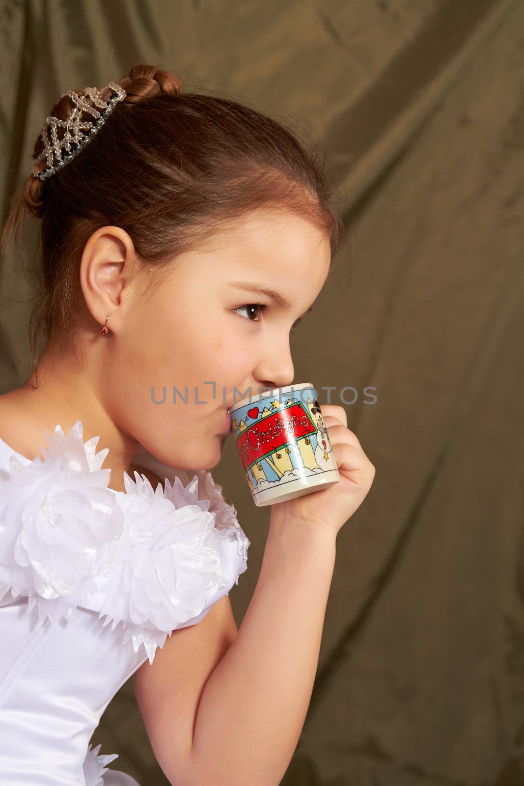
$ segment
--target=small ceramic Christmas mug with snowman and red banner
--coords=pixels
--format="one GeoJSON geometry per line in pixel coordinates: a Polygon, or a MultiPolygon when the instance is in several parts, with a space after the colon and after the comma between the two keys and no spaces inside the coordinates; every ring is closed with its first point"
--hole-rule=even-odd
{"type": "Polygon", "coordinates": [[[233,404],[231,431],[258,507],[339,482],[317,391],[309,382],[233,404]]]}

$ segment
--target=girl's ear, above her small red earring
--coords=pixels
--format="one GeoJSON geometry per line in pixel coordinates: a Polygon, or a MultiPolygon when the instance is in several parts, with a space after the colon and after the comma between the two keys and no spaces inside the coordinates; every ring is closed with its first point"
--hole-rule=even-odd
{"type": "Polygon", "coordinates": [[[126,298],[136,254],[130,236],[119,226],[102,226],[90,236],[80,261],[80,286],[91,317],[112,332],[119,329],[119,306],[126,298]]]}

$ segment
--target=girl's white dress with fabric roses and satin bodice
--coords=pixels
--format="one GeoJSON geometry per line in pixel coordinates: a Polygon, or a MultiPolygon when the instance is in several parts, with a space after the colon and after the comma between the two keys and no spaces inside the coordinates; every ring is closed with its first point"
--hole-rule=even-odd
{"type": "Polygon", "coordinates": [[[108,488],[99,437],[46,432],[44,460],[0,439],[0,783],[140,786],[90,739],[131,674],[171,632],[238,584],[250,545],[210,472],[145,448],[108,488]]]}

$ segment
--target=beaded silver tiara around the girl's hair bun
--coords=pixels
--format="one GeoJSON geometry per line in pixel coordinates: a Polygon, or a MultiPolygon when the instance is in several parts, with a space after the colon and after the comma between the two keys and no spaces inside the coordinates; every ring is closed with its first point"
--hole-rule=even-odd
{"type": "Polygon", "coordinates": [[[67,119],[60,120],[49,115],[42,127],[40,135],[44,143],[44,149],[36,159],[33,167],[35,178],[40,180],[49,178],[51,174],[54,174],[75,156],[78,156],[80,150],[87,145],[87,142],[93,138],[94,134],[97,134],[98,129],[104,125],[115,104],[126,97],[126,91],[115,82],[109,82],[101,90],[97,90],[96,87],[86,87],[82,96],[79,96],[74,90],[68,90],[60,98],[64,96],[71,96],[75,106],[67,119]],[[101,94],[108,87],[112,89],[112,96],[109,101],[104,101],[101,94]],[[96,107],[100,108],[101,112],[96,107]],[[94,123],[90,120],[82,120],[82,112],[88,112],[93,116],[95,118],[94,123]],[[57,134],[57,126],[65,128],[64,137],[60,140],[57,134]],[[51,134],[50,139],[48,135],[49,130],[51,134]],[[41,161],[42,158],[47,159],[46,169],[39,172],[38,161],[41,161]]]}

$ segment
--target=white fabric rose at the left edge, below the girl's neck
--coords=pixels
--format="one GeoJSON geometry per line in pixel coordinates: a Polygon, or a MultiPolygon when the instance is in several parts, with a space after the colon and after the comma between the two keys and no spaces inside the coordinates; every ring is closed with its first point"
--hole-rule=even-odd
{"type": "Polygon", "coordinates": [[[93,576],[115,559],[124,523],[106,488],[109,471],[100,469],[107,449],[94,455],[98,437],[84,444],[81,431],[65,437],[58,426],[47,439],[43,461],[12,458],[0,484],[0,595],[28,596],[40,623],[71,619],[71,596],[79,586],[96,589],[93,576]]]}

